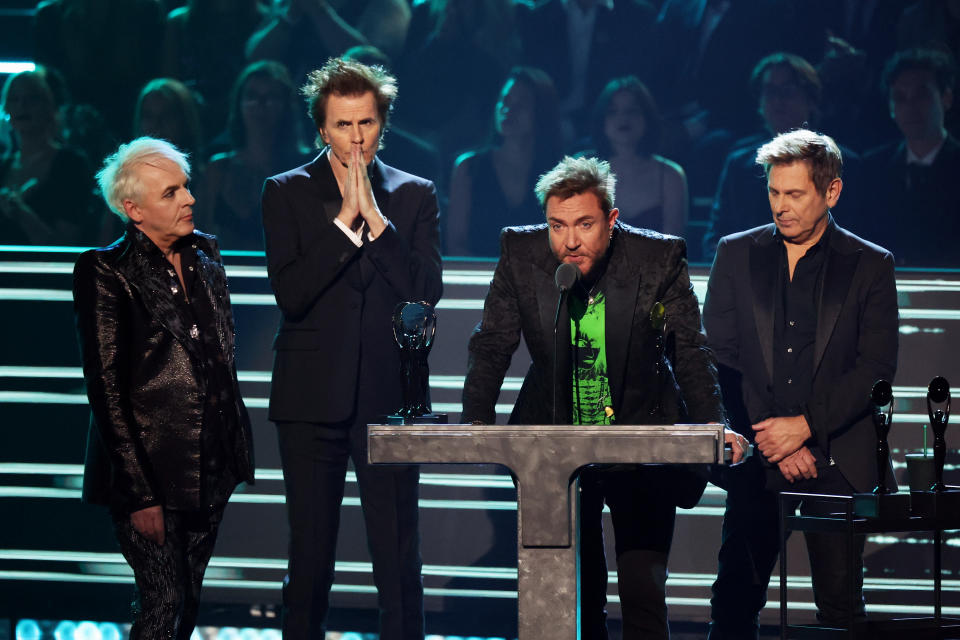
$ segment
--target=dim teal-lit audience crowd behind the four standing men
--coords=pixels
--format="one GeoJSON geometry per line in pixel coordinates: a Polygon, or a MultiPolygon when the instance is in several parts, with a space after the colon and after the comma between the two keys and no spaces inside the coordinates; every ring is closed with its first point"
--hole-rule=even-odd
{"type": "Polygon", "coordinates": [[[93,173],[151,135],[190,154],[198,226],[262,250],[263,180],[317,152],[299,87],[344,55],[399,78],[380,157],[437,183],[445,255],[496,256],[542,220],[537,177],[588,154],[621,220],[710,261],[770,221],[757,147],[808,127],[842,149],[841,225],[960,267],[960,0],[44,0],[33,25],[0,104],[2,244],[119,236],[93,173]]]}

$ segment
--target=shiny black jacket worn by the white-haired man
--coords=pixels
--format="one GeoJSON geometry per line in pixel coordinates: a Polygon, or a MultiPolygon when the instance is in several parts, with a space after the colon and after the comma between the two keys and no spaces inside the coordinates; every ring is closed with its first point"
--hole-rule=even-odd
{"type": "MultiPolygon", "coordinates": [[[[233,316],[216,239],[192,236],[202,294],[230,370],[228,448],[238,481],[253,481],[250,419],[234,361],[233,316]]],[[[192,322],[174,298],[160,250],[129,227],[117,242],[80,255],[73,299],[83,376],[92,409],[83,499],[133,512],[152,505],[201,506],[204,358],[192,322]],[[195,334],[195,331],[193,332],[195,334]]],[[[216,378],[211,378],[216,379],[216,378]]],[[[223,406],[223,405],[221,405],[223,406]]]]}

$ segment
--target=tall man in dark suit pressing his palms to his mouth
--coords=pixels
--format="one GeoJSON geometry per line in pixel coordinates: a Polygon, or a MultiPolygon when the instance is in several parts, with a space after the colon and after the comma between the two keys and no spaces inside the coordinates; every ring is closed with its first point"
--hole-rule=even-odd
{"type": "Polygon", "coordinates": [[[290,522],[288,638],[323,637],[348,459],[380,637],[423,637],[419,471],[371,467],[366,455],[366,425],[402,402],[394,308],[436,304],[442,289],[433,183],[376,158],[396,90],[383,69],[354,61],[331,59],[311,73],[303,93],[323,151],[263,188],[267,270],[283,314],[269,415],[290,522]]]}

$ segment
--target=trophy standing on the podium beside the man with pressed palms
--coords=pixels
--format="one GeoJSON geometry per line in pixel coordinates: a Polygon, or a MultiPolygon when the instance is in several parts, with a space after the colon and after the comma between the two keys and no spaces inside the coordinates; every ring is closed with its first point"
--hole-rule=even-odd
{"type": "Polygon", "coordinates": [[[437,331],[437,314],[428,302],[401,302],[393,311],[393,337],[400,346],[404,420],[430,414],[427,355],[437,331]]]}

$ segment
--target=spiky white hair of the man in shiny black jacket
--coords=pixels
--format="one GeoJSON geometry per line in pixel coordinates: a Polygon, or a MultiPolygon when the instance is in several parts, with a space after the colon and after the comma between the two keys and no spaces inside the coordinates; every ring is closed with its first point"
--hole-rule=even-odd
{"type": "Polygon", "coordinates": [[[97,184],[107,206],[124,221],[127,213],[123,209],[124,200],[137,201],[141,196],[143,184],[136,167],[153,158],[170,160],[190,177],[190,162],[187,154],[159,138],[143,136],[120,145],[117,151],[103,161],[103,168],[97,173],[97,184]]]}

